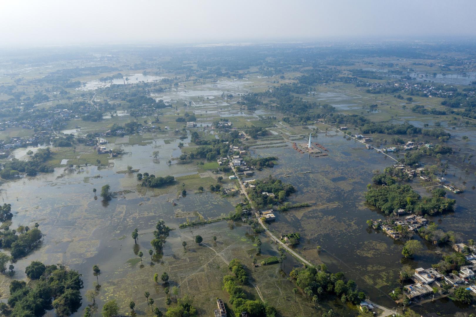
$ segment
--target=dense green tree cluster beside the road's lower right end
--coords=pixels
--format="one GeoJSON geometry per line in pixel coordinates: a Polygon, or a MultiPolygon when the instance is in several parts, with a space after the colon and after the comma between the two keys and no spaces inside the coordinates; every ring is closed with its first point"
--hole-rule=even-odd
{"type": "Polygon", "coordinates": [[[327,267],[295,268],[289,273],[289,277],[309,297],[309,301],[320,300],[322,294],[327,296],[337,296],[342,302],[352,302],[359,304],[365,299],[365,293],[357,289],[353,280],[344,281],[344,274],[327,273],[327,267]]]}

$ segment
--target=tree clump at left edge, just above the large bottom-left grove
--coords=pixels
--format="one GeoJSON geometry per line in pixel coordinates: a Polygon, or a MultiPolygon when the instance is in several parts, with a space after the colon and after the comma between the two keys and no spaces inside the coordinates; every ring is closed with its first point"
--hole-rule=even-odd
{"type": "Polygon", "coordinates": [[[30,229],[28,226],[19,226],[17,229],[5,228],[0,232],[0,248],[10,249],[13,260],[23,258],[34,249],[41,240],[43,234],[38,229],[38,223],[30,229]]]}

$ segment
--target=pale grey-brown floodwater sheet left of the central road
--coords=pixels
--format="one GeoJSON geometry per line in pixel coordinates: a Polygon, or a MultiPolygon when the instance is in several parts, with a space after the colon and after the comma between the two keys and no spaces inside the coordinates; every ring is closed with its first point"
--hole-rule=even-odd
{"type": "MultiPolygon", "coordinates": [[[[120,274],[135,269],[126,263],[135,257],[130,247],[130,234],[134,228],[139,228],[140,235],[150,236],[159,219],[164,219],[169,227],[178,228],[187,218],[194,220],[198,215],[205,219],[228,215],[234,210],[231,202],[237,202],[233,199],[230,202],[210,192],[195,194],[197,188],[187,186],[186,197],[178,196],[178,190],[175,189],[165,190],[165,193],[157,196],[149,193],[141,196],[136,192],[135,173],[116,173],[125,170],[128,165],[139,168],[142,173],[149,172],[156,176],[196,173],[195,164],[167,164],[171,157],[180,155],[178,142],[179,139],[166,144],[163,139],[158,139],[146,146],[123,146],[127,153],[122,158],[111,160],[114,162],[113,168],[98,170],[96,166],[89,166],[80,172],[56,168],[54,173],[3,183],[0,191],[2,203],[11,203],[14,214],[11,228],[19,225],[31,227],[38,222],[45,234],[40,249],[14,264],[13,278],[24,278],[25,267],[33,260],[45,264],[64,262],[83,275],[85,287],[81,292],[84,296],[95,281],[95,277],[89,274],[94,264],[101,267],[99,279],[103,282],[112,282],[120,274]],[[157,159],[151,154],[155,150],[159,150],[157,159]],[[97,188],[99,195],[100,188],[105,184],[109,184],[114,192],[128,191],[119,193],[118,198],[104,205],[100,197],[94,199],[92,189],[97,188]],[[177,203],[176,206],[172,206],[172,200],[177,203]]],[[[185,139],[184,142],[189,140],[185,139]]],[[[141,238],[140,248],[143,251],[150,248],[150,239],[141,238]]],[[[1,294],[7,296],[8,290],[4,292],[3,289],[1,294]]],[[[83,306],[86,304],[83,297],[83,306]]],[[[74,316],[82,316],[83,308],[74,316]]]]}

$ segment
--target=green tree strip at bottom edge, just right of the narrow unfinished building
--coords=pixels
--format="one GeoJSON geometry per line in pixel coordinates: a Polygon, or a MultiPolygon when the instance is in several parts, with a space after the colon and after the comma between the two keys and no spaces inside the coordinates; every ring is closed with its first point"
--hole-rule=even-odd
{"type": "Polygon", "coordinates": [[[241,316],[242,312],[247,312],[248,316],[275,317],[276,308],[264,304],[260,300],[248,299],[243,287],[239,286],[239,284],[248,282],[248,276],[237,258],[231,260],[228,269],[235,274],[235,277],[231,275],[223,277],[223,289],[227,291],[230,297],[230,304],[233,305],[235,315],[241,316]]]}

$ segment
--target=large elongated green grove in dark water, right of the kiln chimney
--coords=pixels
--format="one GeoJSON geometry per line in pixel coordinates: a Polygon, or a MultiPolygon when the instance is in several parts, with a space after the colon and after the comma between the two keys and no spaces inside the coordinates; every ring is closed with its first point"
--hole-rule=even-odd
{"type": "Polygon", "coordinates": [[[430,197],[420,197],[409,185],[391,184],[370,188],[365,194],[365,200],[372,206],[380,208],[386,215],[404,208],[417,215],[433,215],[446,211],[454,211],[455,199],[444,198],[440,192],[430,197]]]}

